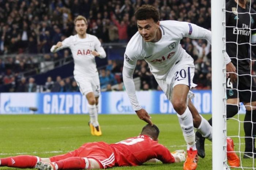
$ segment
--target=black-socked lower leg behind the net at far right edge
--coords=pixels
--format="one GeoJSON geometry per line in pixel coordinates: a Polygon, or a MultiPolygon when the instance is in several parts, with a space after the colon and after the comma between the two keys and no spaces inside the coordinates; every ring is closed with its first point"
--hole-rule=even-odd
{"type": "Polygon", "coordinates": [[[255,135],[256,135],[256,102],[245,103],[245,153],[244,158],[256,158],[255,135]]]}

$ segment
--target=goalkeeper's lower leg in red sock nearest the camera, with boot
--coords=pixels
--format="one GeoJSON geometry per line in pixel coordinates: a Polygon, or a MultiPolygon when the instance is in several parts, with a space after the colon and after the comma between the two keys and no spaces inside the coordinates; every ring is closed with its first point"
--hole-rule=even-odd
{"type": "Polygon", "coordinates": [[[91,158],[70,157],[57,162],[38,162],[35,166],[38,170],[61,169],[100,169],[99,163],[91,158]]]}

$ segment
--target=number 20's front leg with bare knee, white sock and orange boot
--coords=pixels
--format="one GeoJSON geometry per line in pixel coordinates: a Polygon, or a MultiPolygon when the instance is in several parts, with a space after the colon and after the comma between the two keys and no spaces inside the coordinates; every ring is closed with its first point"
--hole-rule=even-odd
{"type": "Polygon", "coordinates": [[[178,120],[187,143],[187,159],[184,163],[184,170],[195,170],[197,167],[197,150],[195,145],[195,133],[193,117],[187,106],[189,87],[185,84],[174,86],[172,91],[172,105],[177,112],[178,120]]]}

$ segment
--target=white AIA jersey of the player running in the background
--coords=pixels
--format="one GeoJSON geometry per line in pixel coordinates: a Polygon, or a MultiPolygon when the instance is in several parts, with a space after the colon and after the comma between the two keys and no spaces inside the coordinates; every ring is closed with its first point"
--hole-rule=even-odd
{"type": "Polygon", "coordinates": [[[63,48],[71,49],[74,58],[74,75],[83,74],[86,77],[98,75],[95,57],[91,51],[96,50],[100,54],[100,58],[106,57],[106,52],[101,46],[101,42],[97,37],[91,34],[86,34],[86,38],[79,38],[78,35],[71,35],[64,39],[62,46],[54,50],[52,47],[51,52],[59,51],[63,48]]]}

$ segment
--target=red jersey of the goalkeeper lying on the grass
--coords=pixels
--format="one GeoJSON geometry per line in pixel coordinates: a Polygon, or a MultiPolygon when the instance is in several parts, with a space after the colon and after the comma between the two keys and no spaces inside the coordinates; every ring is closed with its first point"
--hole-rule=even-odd
{"type": "Polygon", "coordinates": [[[174,163],[170,151],[146,135],[131,137],[116,144],[110,144],[114,150],[115,166],[137,166],[147,160],[157,158],[163,163],[174,163]]]}

